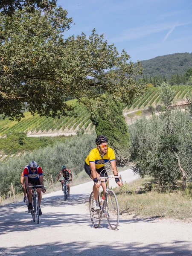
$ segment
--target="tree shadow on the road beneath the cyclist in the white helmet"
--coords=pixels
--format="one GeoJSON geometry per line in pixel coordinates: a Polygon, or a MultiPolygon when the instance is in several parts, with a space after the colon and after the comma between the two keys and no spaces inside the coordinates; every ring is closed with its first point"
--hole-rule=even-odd
{"type": "MultiPolygon", "coordinates": [[[[64,221],[73,224],[87,223],[90,220],[89,212],[79,214],[74,212],[70,214],[65,211],[47,212],[44,213],[44,207],[67,207],[69,205],[84,204],[87,202],[87,197],[83,195],[74,196],[68,201],[64,201],[62,196],[44,198],[42,200],[41,209],[43,214],[40,216],[39,224],[32,221],[31,213],[28,213],[27,207],[23,202],[16,202],[0,207],[0,235],[15,231],[27,231],[39,229],[42,227],[62,226],[64,221]]],[[[51,208],[50,208],[51,209],[51,208]]]]}

